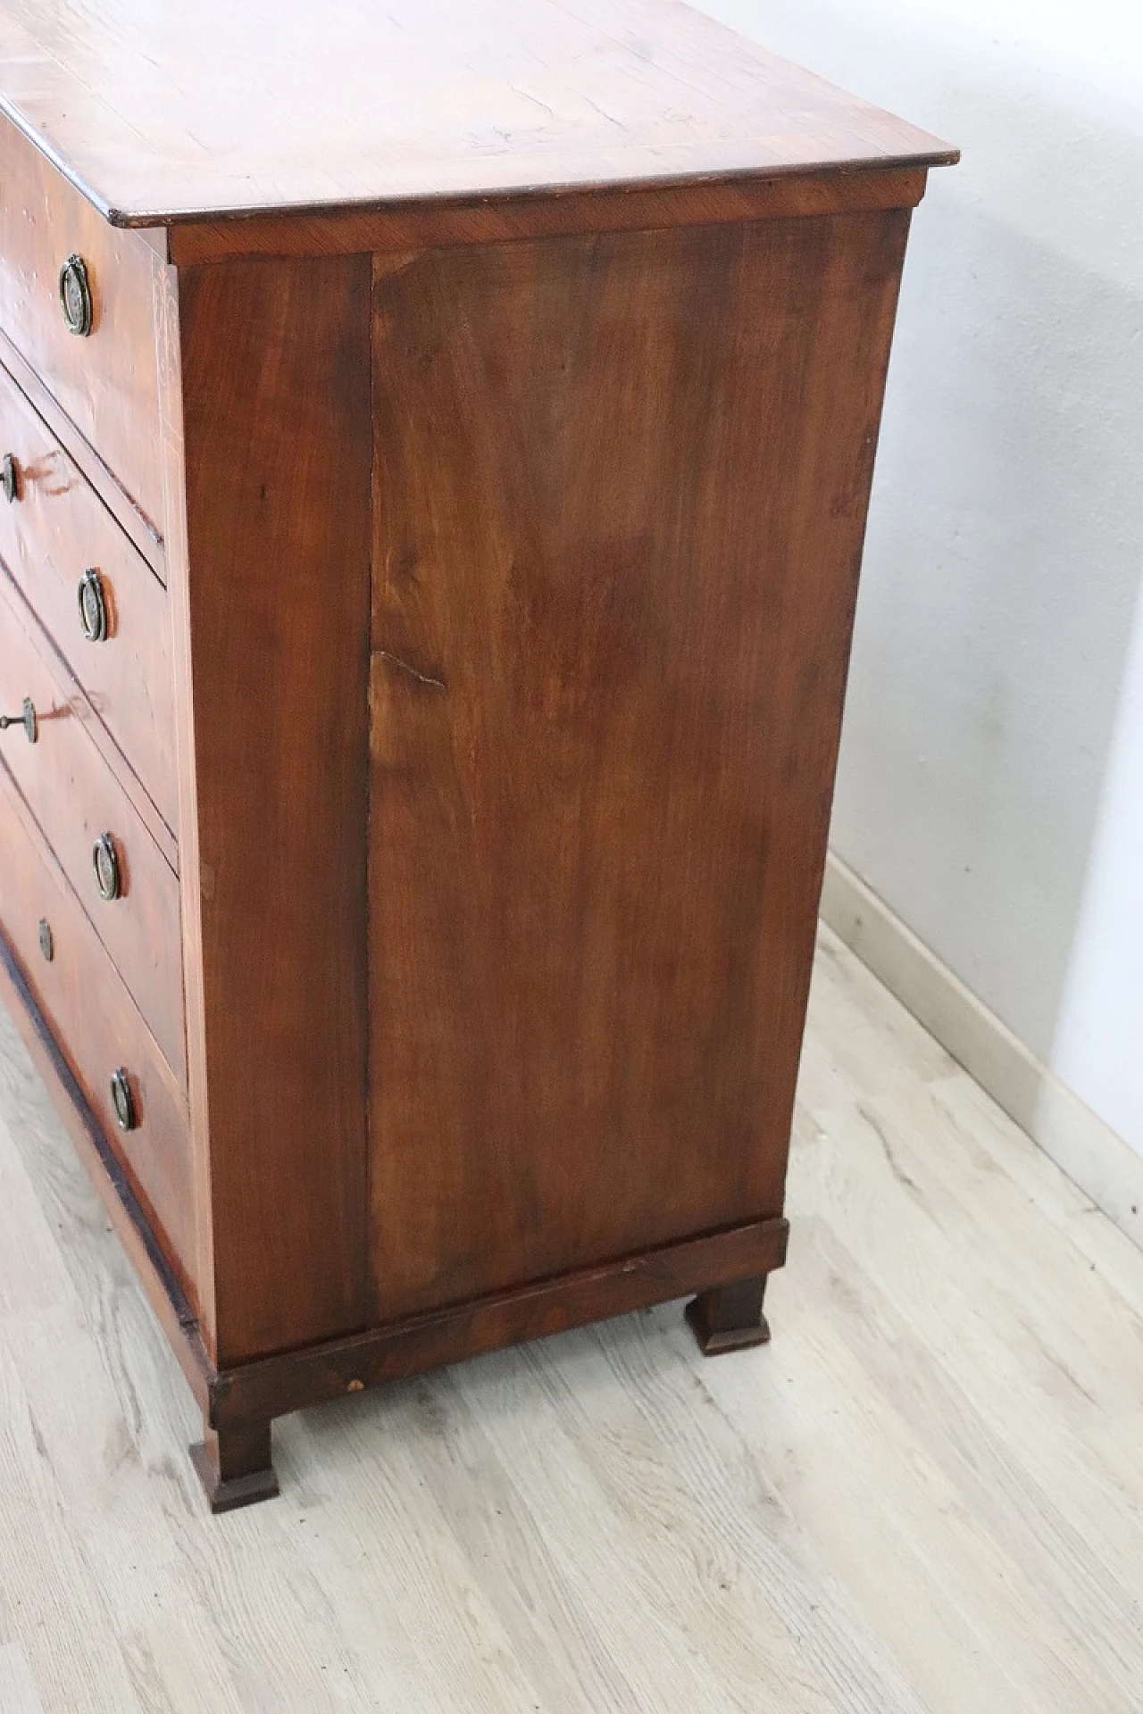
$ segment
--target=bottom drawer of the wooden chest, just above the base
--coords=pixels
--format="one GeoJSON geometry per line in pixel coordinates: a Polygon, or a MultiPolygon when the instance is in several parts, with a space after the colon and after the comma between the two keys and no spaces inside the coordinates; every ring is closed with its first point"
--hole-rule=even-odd
{"type": "Polygon", "coordinates": [[[0,929],[171,1262],[194,1260],[187,1106],[137,1006],[0,763],[0,929]],[[41,924],[43,948],[41,948],[41,924]],[[50,953],[50,956],[46,956],[50,953]],[[117,1121],[123,1071],[132,1130],[117,1121]]]}

